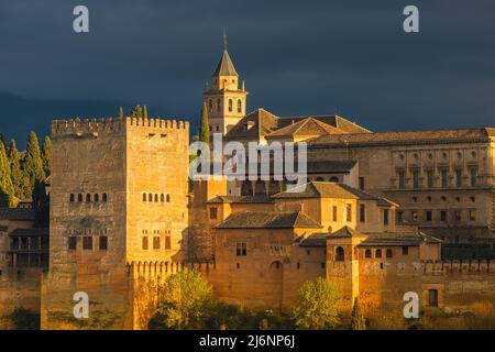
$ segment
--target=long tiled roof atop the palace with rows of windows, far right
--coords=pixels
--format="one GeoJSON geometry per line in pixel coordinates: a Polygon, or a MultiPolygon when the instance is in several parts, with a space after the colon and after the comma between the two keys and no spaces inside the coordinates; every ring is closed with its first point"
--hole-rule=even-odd
{"type": "Polygon", "coordinates": [[[431,130],[406,132],[352,133],[345,135],[323,135],[308,142],[310,146],[382,145],[408,143],[452,143],[488,140],[495,136],[495,129],[431,130]]]}

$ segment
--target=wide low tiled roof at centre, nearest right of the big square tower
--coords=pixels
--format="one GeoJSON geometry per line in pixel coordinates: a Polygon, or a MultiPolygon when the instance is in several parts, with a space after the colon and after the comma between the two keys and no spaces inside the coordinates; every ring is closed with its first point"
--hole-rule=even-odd
{"type": "Polygon", "coordinates": [[[300,211],[243,211],[229,216],[216,229],[321,229],[300,211]]]}

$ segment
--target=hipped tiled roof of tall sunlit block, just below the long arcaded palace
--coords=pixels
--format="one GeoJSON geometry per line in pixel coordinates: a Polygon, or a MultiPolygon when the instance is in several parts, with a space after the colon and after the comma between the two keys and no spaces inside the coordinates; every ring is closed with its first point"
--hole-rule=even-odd
{"type": "Polygon", "coordinates": [[[345,184],[310,182],[308,184],[293,188],[290,191],[282,191],[272,196],[273,198],[344,198],[344,199],[362,199],[376,200],[378,206],[395,206],[394,202],[369,194],[364,190],[348,186],[345,184]]]}

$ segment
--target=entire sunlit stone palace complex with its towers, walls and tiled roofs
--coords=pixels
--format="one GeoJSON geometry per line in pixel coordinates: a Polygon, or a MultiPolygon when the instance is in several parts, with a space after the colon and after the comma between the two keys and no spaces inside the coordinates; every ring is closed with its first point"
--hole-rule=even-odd
{"type": "Polygon", "coordinates": [[[306,280],[342,305],[398,309],[495,301],[495,128],[371,132],[339,116],[246,113],[224,48],[204,101],[224,141],[306,142],[307,185],[188,180],[189,124],[55,120],[50,230],[0,209],[0,315],[42,329],[145,329],[156,287],[195,267],[227,302],[289,309],[306,280]],[[471,244],[476,251],[462,251],[471,244]],[[76,292],[90,318],[74,318],[76,292]]]}

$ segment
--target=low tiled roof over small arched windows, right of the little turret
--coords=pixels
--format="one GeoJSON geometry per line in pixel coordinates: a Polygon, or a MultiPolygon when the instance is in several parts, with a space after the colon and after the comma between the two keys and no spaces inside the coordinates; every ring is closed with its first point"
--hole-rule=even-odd
{"type": "Polygon", "coordinates": [[[372,233],[359,246],[417,246],[421,243],[441,243],[442,241],[422,232],[410,233],[372,233]]]}

